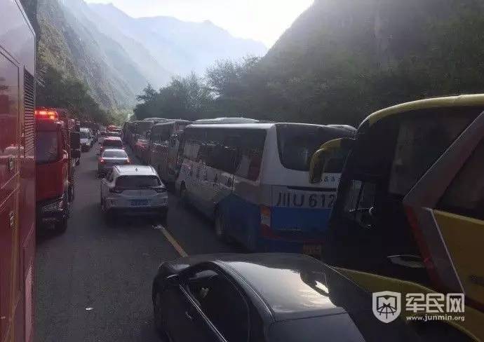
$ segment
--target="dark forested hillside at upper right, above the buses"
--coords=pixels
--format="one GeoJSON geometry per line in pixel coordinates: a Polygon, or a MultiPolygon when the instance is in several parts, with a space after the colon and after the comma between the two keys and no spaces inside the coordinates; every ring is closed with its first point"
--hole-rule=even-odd
{"type": "Polygon", "coordinates": [[[478,0],[316,0],[262,59],[208,69],[204,111],[358,125],[391,104],[483,93],[482,32],[478,0]]]}

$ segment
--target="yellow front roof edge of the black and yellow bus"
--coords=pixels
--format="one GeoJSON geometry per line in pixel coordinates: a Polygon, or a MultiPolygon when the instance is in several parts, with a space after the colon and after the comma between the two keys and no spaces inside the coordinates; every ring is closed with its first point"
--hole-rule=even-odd
{"type": "Polygon", "coordinates": [[[395,106],[380,109],[379,111],[370,114],[365,120],[363,120],[360,126],[363,124],[373,125],[387,116],[394,116],[419,109],[439,107],[484,107],[484,94],[431,97],[424,100],[396,104],[395,106]]]}

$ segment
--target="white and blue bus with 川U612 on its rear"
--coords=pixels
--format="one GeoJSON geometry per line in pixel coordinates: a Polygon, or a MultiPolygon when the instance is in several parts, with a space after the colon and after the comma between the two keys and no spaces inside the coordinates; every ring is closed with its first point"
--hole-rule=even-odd
{"type": "Polygon", "coordinates": [[[352,136],[302,123],[189,125],[176,189],[215,219],[219,238],[250,250],[318,255],[338,177],[311,186],[309,161],[322,142],[352,136]]]}

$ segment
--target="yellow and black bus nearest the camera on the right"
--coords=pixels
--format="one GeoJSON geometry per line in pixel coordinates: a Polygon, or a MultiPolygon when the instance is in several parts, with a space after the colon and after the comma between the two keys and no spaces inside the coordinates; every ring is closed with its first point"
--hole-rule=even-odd
{"type": "Polygon", "coordinates": [[[377,111],[343,145],[311,161],[317,182],[347,154],[325,262],[371,292],[464,294],[464,320],[441,323],[484,341],[484,95],[377,111]]]}

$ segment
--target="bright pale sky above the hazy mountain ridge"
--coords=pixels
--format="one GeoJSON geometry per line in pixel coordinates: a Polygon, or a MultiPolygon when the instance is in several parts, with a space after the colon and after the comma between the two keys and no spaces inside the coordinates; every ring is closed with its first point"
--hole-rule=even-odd
{"type": "Polygon", "coordinates": [[[210,20],[234,36],[262,41],[267,47],[290,27],[313,0],[86,0],[112,3],[128,15],[168,15],[185,21],[210,20]]]}

